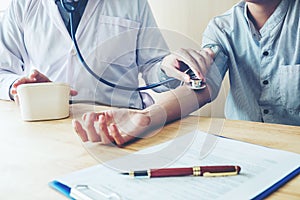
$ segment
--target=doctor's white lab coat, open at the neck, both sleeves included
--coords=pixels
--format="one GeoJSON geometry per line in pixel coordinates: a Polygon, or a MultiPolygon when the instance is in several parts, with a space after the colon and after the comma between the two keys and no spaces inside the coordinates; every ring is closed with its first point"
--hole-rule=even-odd
{"type": "MultiPolygon", "coordinates": [[[[159,80],[159,62],[168,54],[153,27],[146,0],[89,0],[76,38],[95,73],[137,87],[139,73],[147,83],[159,80]]],[[[79,92],[75,100],[142,108],[138,92],[111,88],[87,73],[54,0],[12,0],[0,30],[0,98],[9,99],[12,82],[32,68],[52,81],[69,83],[79,92]]]]}

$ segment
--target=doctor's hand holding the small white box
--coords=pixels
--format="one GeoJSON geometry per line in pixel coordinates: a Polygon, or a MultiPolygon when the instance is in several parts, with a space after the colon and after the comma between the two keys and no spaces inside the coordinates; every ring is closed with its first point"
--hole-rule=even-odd
{"type": "MultiPolygon", "coordinates": [[[[45,76],[44,74],[39,72],[38,70],[33,70],[28,76],[19,78],[12,84],[11,89],[10,89],[10,95],[17,102],[18,86],[20,86],[22,84],[27,84],[27,83],[46,83],[46,82],[52,82],[52,81],[47,76],[45,76]]],[[[70,95],[71,96],[77,95],[77,91],[71,89],[70,95]]]]}

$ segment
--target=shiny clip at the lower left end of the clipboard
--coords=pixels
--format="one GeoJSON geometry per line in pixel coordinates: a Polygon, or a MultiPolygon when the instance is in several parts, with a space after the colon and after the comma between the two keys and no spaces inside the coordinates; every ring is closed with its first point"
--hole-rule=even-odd
{"type": "Polygon", "coordinates": [[[106,188],[95,188],[89,185],[76,185],[72,187],[70,196],[76,200],[121,200],[120,195],[106,188]]]}

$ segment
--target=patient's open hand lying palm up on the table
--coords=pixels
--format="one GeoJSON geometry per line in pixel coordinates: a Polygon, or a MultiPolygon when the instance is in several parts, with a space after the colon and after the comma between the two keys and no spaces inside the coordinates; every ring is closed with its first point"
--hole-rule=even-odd
{"type": "Polygon", "coordinates": [[[118,109],[86,113],[82,121],[74,119],[73,128],[83,142],[113,143],[122,147],[145,133],[150,117],[143,111],[118,109]]]}

